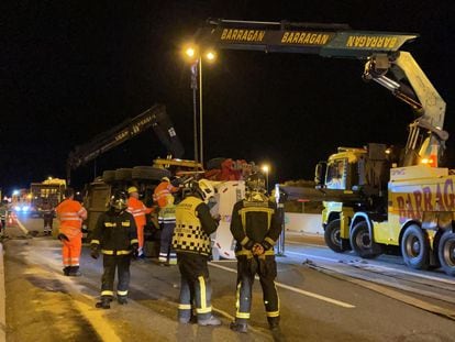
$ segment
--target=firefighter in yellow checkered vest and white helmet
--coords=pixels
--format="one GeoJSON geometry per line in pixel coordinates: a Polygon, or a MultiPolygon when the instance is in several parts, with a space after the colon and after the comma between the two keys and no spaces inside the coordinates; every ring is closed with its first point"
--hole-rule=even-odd
{"type": "Polygon", "coordinates": [[[190,191],[176,208],[173,235],[181,275],[178,319],[180,323],[189,323],[195,305],[199,326],[220,326],[221,321],[212,315],[208,268],[210,234],[218,228],[218,220],[212,218],[208,206],[214,188],[209,180],[200,179],[191,183],[190,191]]]}

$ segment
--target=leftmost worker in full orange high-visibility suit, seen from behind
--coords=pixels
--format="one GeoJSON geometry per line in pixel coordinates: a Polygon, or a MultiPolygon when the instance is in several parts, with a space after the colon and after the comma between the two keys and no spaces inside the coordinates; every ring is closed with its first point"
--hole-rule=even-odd
{"type": "Polygon", "coordinates": [[[82,247],[82,221],[87,219],[87,210],[74,200],[71,188],[65,189],[65,199],[55,208],[60,221],[58,239],[63,243],[62,255],[64,275],[80,276],[79,257],[82,247]]]}

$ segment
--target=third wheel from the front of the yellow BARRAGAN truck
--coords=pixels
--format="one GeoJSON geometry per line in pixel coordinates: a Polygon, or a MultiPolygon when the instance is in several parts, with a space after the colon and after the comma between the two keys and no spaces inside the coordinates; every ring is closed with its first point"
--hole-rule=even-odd
{"type": "Polygon", "coordinates": [[[426,234],[417,224],[404,231],[401,241],[401,254],[404,264],[414,269],[428,269],[430,266],[430,246],[426,234]]]}

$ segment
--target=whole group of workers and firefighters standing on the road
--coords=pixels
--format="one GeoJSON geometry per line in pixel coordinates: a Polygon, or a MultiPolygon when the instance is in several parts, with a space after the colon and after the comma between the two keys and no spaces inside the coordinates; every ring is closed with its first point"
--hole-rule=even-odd
{"type": "MultiPolygon", "coordinates": [[[[264,175],[256,173],[246,181],[245,198],[237,201],[232,211],[231,232],[236,241],[237,286],[235,321],[230,328],[247,332],[252,307],[252,287],[255,275],[264,294],[264,305],[270,329],[279,327],[279,299],[275,287],[277,266],[274,245],[281,223],[277,206],[266,195],[264,175]]],[[[208,262],[211,255],[210,234],[219,227],[219,217],[210,212],[215,189],[207,179],[189,183],[186,196],[175,205],[174,195],[179,191],[165,177],[155,188],[158,222],[162,241],[158,261],[162,265],[178,265],[180,272],[180,295],[178,321],[197,322],[199,326],[220,326],[212,313],[211,283],[208,262]]],[[[130,187],[127,195],[118,191],[109,202],[92,232],[91,256],[103,255],[101,300],[97,308],[109,309],[114,299],[114,277],[118,272],[116,300],[127,302],[130,263],[144,255],[145,214],[153,209],[141,200],[137,188],[130,187]]],[[[55,211],[60,220],[58,239],[63,243],[64,274],[79,276],[81,250],[81,222],[87,218],[86,209],[74,200],[74,192],[67,189],[65,200],[55,211]]]]}

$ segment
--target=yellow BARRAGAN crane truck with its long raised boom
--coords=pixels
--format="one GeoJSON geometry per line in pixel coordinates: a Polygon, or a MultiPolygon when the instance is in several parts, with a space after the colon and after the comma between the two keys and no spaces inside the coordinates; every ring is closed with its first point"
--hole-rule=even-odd
{"type": "Polygon", "coordinates": [[[209,20],[195,35],[204,48],[315,54],[356,58],[374,80],[415,113],[402,151],[385,144],[340,147],[315,170],[314,189],[282,187],[289,199],[324,201],[325,241],[375,257],[399,247],[407,265],[441,265],[455,275],[453,170],[437,167],[445,148],[445,102],[409,52],[417,34],[354,31],[344,24],[209,20]]]}

